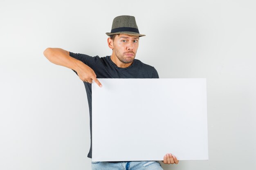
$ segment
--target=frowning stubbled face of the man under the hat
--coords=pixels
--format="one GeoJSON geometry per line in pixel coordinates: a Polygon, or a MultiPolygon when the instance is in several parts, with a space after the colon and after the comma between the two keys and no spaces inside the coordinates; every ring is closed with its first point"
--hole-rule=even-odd
{"type": "Polygon", "coordinates": [[[120,62],[128,64],[133,62],[139,46],[139,36],[126,34],[117,35],[113,41],[113,52],[120,62]]]}

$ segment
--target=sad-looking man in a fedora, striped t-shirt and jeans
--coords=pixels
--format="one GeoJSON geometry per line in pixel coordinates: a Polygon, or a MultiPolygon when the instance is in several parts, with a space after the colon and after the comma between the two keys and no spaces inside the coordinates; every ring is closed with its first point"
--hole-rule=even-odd
{"type": "MultiPolygon", "coordinates": [[[[145,36],[139,33],[135,17],[121,15],[114,18],[112,30],[106,33],[108,46],[112,49],[112,55],[106,57],[91,57],[85,54],[77,54],[57,48],[47,48],[45,57],[57,65],[71,68],[83,80],[90,111],[90,135],[91,146],[88,157],[92,158],[92,81],[100,87],[97,78],[159,78],[153,66],[135,59],[139,46],[139,37],[145,36]]],[[[164,163],[173,164],[179,161],[174,155],[164,155],[164,163]]],[[[162,170],[158,161],[128,161],[128,162],[92,162],[92,169],[121,169],[137,167],[138,170],[162,170]]]]}

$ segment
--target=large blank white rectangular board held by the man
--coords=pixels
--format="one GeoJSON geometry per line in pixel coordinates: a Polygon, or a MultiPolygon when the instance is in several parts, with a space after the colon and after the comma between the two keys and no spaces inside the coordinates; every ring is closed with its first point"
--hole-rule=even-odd
{"type": "Polygon", "coordinates": [[[92,83],[92,161],[208,160],[206,79],[92,83]]]}

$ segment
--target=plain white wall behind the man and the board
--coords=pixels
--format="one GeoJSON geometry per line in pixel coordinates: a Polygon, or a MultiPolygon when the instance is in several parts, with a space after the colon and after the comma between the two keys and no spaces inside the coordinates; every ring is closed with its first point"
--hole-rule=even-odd
{"type": "Polygon", "coordinates": [[[161,78],[207,78],[209,161],[164,169],[255,169],[255,9],[254,0],[1,0],[0,169],[90,169],[83,83],[43,51],[110,55],[117,15],[136,17],[146,34],[136,58],[161,78]]]}

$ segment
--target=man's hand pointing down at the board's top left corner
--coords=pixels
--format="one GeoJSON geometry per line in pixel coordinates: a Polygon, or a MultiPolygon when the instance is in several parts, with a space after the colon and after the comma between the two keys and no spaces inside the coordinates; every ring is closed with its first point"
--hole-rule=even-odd
{"type": "Polygon", "coordinates": [[[92,68],[90,68],[86,64],[83,64],[83,62],[77,62],[76,73],[79,78],[83,80],[83,82],[92,83],[93,80],[95,83],[98,84],[98,86],[102,87],[101,83],[96,78],[96,74],[94,73],[92,68]]]}

